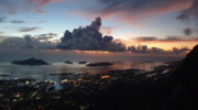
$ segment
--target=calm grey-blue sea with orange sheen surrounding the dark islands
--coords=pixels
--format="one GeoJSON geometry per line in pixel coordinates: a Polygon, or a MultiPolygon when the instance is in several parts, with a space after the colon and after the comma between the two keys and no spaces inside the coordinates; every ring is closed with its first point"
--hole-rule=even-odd
{"type": "Polygon", "coordinates": [[[68,51],[8,51],[0,53],[0,79],[32,78],[36,80],[62,80],[74,78],[77,75],[96,75],[113,69],[143,69],[152,70],[164,62],[182,59],[183,55],[151,55],[151,54],[131,54],[131,53],[74,53],[68,51]],[[51,65],[44,66],[20,66],[11,64],[15,59],[25,59],[30,57],[42,58],[51,65]],[[65,64],[69,61],[74,64],[65,64]],[[114,63],[108,67],[88,67],[87,64],[78,62],[111,62],[114,63]],[[55,75],[51,74],[68,74],[55,75]],[[4,76],[8,75],[8,76],[4,76]]]}

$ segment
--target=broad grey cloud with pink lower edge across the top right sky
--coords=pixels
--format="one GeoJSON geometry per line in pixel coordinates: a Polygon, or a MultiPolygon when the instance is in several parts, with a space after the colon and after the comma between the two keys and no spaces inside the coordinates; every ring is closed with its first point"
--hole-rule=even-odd
{"type": "MultiPolygon", "coordinates": [[[[87,2],[89,0],[86,0],[87,2]]],[[[194,0],[96,0],[97,6],[69,11],[70,14],[86,18],[100,15],[103,19],[113,19],[129,25],[142,25],[140,21],[189,9],[194,0]],[[84,10],[85,9],[85,10],[84,10]]]]}

